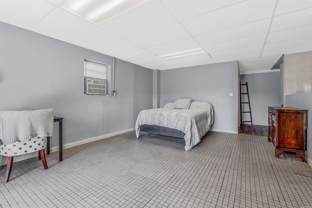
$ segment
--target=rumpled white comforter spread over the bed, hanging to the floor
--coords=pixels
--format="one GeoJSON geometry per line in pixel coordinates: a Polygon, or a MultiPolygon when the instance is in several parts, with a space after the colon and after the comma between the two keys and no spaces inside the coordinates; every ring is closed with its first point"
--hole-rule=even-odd
{"type": "Polygon", "coordinates": [[[137,116],[136,134],[143,124],[177,129],[185,133],[185,150],[192,149],[200,138],[209,131],[214,121],[213,109],[170,109],[158,108],[142,110],[137,116]]]}

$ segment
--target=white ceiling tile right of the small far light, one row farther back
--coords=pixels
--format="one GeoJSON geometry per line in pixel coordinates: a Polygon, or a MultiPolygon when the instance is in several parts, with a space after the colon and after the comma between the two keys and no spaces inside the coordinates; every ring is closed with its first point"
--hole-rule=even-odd
{"type": "Polygon", "coordinates": [[[246,47],[246,48],[239,48],[229,51],[221,51],[221,52],[214,52],[210,53],[210,56],[215,58],[224,58],[224,57],[234,57],[234,56],[240,56],[240,55],[247,55],[251,53],[259,53],[262,50],[263,45],[256,45],[252,47],[246,47]]]}

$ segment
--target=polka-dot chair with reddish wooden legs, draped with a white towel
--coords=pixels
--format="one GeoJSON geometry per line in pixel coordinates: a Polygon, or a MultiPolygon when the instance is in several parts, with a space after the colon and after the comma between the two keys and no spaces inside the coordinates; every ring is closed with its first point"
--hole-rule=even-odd
{"type": "Polygon", "coordinates": [[[0,111],[0,155],[8,157],[4,183],[10,179],[14,156],[38,151],[48,169],[44,149],[47,136],[53,136],[54,111],[0,111]]]}

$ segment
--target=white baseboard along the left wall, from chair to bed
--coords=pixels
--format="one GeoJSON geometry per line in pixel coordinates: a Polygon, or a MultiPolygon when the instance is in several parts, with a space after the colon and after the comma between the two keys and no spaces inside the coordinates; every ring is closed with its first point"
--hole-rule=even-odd
{"type": "MultiPolygon", "coordinates": [[[[122,130],[122,131],[119,131],[119,132],[112,132],[112,133],[108,133],[108,134],[105,134],[105,135],[96,136],[96,137],[93,137],[93,138],[89,138],[89,139],[84,139],[84,140],[81,140],[81,141],[73,142],[73,143],[70,143],[70,144],[65,144],[65,145],[63,145],[63,150],[67,149],[67,148],[75,147],[75,146],[78,146],[78,145],[86,144],[86,143],[89,143],[89,142],[94,142],[94,141],[97,141],[97,140],[100,140],[100,139],[105,139],[105,138],[108,138],[108,137],[111,137],[111,136],[116,136],[116,135],[119,135],[119,134],[122,134],[122,133],[132,132],[132,131],[135,131],[135,128],[126,129],[126,130],[122,130]]],[[[51,152],[55,152],[55,151],[59,151],[59,146],[50,148],[50,153],[51,152]]],[[[23,155],[15,156],[13,161],[14,162],[18,162],[18,161],[26,160],[26,159],[29,159],[29,158],[32,158],[32,157],[38,157],[38,153],[37,152],[32,152],[32,153],[29,153],[29,154],[23,154],[23,155]]],[[[7,161],[7,157],[3,156],[2,160],[0,160],[0,166],[6,165],[7,162],[8,162],[7,161]]]]}

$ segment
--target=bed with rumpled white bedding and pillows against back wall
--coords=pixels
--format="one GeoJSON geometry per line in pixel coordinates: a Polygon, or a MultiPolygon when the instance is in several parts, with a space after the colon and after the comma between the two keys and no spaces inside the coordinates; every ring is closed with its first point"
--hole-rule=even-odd
{"type": "Polygon", "coordinates": [[[211,130],[214,111],[210,103],[178,99],[164,108],[142,110],[137,116],[136,135],[140,131],[184,138],[185,150],[191,150],[211,130]]]}

